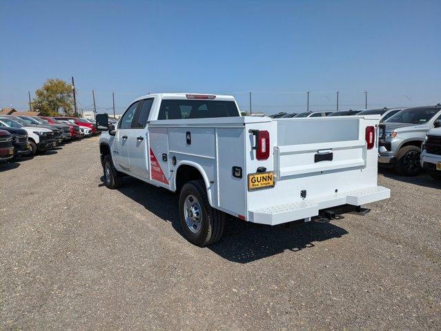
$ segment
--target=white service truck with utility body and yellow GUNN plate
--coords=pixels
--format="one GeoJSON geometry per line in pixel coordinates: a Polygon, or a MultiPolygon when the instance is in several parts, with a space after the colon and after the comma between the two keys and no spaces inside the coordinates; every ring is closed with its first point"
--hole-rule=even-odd
{"type": "Polygon", "coordinates": [[[124,174],[180,192],[188,240],[217,241],[226,214],[276,225],[333,219],[390,197],[377,185],[380,117],[241,117],[231,96],[149,94],[97,126],[105,184],[124,174]],[[337,209],[338,208],[338,209],[337,209]]]}

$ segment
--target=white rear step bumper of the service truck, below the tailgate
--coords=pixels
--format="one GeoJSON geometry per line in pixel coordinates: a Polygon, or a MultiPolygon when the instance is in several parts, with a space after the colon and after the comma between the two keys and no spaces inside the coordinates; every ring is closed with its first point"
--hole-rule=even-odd
{"type": "Polygon", "coordinates": [[[365,203],[380,201],[389,197],[391,197],[391,190],[389,188],[373,186],[371,188],[335,193],[331,196],[317,199],[306,198],[293,203],[271,205],[251,210],[249,221],[277,225],[298,219],[308,219],[309,217],[319,215],[320,210],[331,209],[339,205],[364,205],[365,203]]]}

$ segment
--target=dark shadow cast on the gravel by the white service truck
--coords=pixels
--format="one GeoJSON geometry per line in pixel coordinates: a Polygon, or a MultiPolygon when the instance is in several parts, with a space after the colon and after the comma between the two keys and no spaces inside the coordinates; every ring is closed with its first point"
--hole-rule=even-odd
{"type": "MultiPolygon", "coordinates": [[[[169,221],[185,237],[179,221],[177,194],[130,177],[124,177],[124,185],[118,190],[157,217],[169,221]]],[[[348,232],[332,223],[310,222],[286,228],[284,225],[268,226],[232,219],[227,222],[222,239],[208,249],[228,261],[248,263],[282,252],[313,248],[315,242],[340,238],[344,234],[348,232]]]]}

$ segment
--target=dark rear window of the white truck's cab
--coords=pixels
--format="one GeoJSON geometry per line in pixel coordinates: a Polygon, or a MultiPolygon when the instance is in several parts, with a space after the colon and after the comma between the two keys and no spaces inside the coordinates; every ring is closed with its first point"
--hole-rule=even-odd
{"type": "Polygon", "coordinates": [[[162,100],[158,119],[208,119],[239,117],[234,101],[219,100],[162,100]]]}

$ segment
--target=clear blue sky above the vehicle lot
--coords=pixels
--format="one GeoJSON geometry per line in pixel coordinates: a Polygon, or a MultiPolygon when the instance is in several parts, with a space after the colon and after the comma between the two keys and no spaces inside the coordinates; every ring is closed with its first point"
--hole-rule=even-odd
{"type": "Polygon", "coordinates": [[[47,78],[79,107],[117,112],[146,92],[233,94],[248,110],[441,101],[441,1],[0,0],[0,107],[47,78]],[[406,99],[407,95],[411,101],[406,99]]]}

